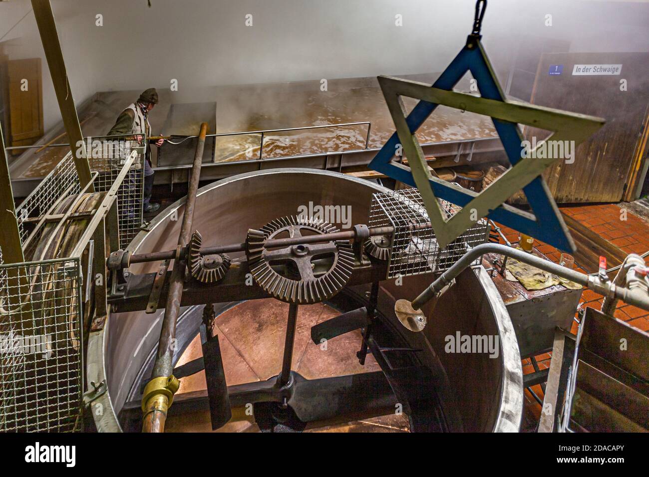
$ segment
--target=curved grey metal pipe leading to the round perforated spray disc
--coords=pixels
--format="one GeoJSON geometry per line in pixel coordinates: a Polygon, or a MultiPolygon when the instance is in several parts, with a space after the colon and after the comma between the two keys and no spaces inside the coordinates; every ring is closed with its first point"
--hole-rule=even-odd
{"type": "Polygon", "coordinates": [[[450,284],[465,268],[469,267],[476,258],[485,253],[497,253],[514,258],[515,260],[528,263],[528,265],[532,265],[546,272],[567,278],[571,282],[578,283],[596,291],[600,295],[604,295],[604,297],[615,297],[638,308],[643,308],[643,310],[649,310],[649,296],[643,293],[641,289],[630,290],[616,287],[611,282],[602,282],[598,276],[583,275],[577,271],[557,265],[557,263],[548,262],[548,260],[528,254],[528,252],[512,249],[511,247],[497,243],[483,243],[465,253],[458,262],[454,263],[450,269],[442,273],[437,280],[422,291],[419,297],[413,300],[412,307],[415,310],[421,310],[421,307],[430,300],[434,299],[436,301],[445,286],[450,284]]]}

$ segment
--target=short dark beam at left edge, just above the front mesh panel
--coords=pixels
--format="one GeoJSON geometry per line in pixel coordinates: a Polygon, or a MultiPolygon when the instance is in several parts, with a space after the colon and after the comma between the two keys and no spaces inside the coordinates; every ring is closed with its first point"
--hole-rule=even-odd
{"type": "Polygon", "coordinates": [[[5,264],[25,261],[2,128],[0,128],[0,250],[5,264]]]}

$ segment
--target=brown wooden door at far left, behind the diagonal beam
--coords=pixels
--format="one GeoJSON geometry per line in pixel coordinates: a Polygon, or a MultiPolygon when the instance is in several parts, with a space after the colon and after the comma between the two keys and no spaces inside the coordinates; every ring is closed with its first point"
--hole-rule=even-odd
{"type": "Polygon", "coordinates": [[[9,60],[8,142],[31,145],[43,136],[43,84],[40,58],[9,60]]]}

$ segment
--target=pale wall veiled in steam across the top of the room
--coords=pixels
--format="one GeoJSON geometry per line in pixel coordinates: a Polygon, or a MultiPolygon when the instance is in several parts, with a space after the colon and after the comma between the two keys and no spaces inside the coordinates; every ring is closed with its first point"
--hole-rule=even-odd
{"type": "MultiPolygon", "coordinates": [[[[79,104],[96,91],[439,71],[471,30],[474,0],[52,0],[79,104]],[[103,26],[95,26],[95,15],[103,26]],[[252,27],[245,15],[252,14],[252,27]],[[395,15],[403,26],[395,25],[395,15]]],[[[31,8],[0,2],[0,37],[31,8]]],[[[490,1],[489,38],[521,34],[572,40],[571,51],[647,51],[649,4],[490,1]],[[545,14],[553,25],[546,27],[545,14]]],[[[43,56],[33,14],[7,36],[10,58],[43,56]],[[18,42],[18,45],[13,43],[18,42]]],[[[58,106],[43,60],[45,128],[58,106]]]]}

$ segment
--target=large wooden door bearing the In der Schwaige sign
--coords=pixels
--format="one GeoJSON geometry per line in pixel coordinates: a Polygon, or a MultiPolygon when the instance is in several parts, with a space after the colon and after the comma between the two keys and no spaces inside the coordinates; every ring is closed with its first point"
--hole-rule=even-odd
{"type": "MultiPolygon", "coordinates": [[[[533,104],[606,119],[604,127],[577,147],[572,164],[557,160],[544,174],[557,202],[619,202],[637,189],[643,179],[638,170],[646,161],[647,78],[649,53],[541,56],[533,104]],[[618,74],[606,74],[615,68],[620,68],[618,74]]],[[[543,138],[547,133],[526,128],[525,135],[543,138]]]]}

